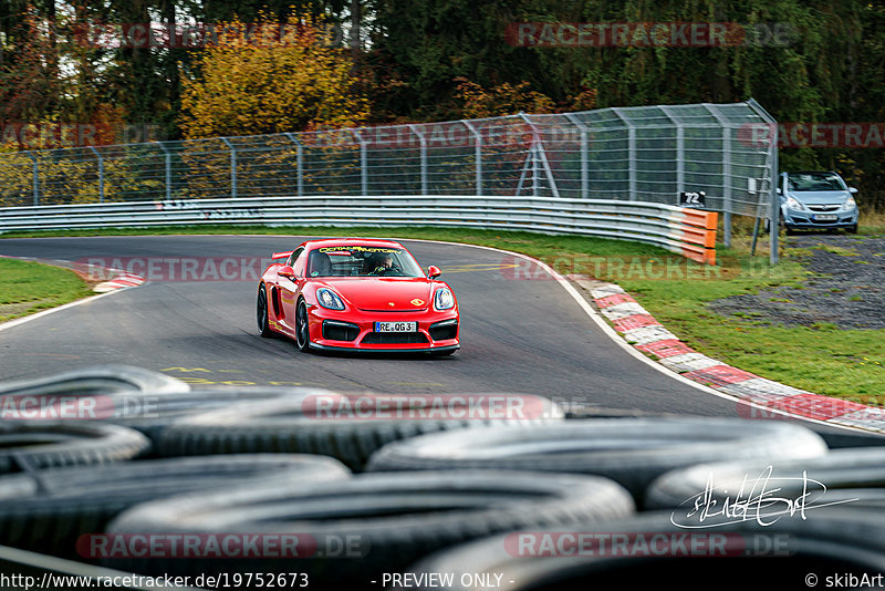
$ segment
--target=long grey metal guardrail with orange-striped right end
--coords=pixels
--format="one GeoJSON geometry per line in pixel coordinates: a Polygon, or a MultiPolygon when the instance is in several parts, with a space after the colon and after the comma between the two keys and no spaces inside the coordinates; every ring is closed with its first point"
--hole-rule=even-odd
{"type": "Polygon", "coordinates": [[[574,234],[647,242],[698,262],[716,263],[716,212],[644,201],[330,195],[0,209],[0,234],[200,224],[441,226],[574,234]]]}

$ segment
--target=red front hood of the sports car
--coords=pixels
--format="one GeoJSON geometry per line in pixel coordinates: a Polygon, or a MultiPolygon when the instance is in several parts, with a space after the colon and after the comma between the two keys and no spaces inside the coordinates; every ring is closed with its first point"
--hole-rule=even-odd
{"type": "Polygon", "coordinates": [[[356,308],[391,312],[426,309],[430,305],[434,287],[433,281],[424,277],[330,278],[323,283],[356,308]]]}

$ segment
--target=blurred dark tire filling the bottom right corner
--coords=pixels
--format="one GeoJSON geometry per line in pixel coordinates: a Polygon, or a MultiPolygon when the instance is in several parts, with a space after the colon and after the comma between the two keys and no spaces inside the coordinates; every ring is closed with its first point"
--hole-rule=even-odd
{"type": "Polygon", "coordinates": [[[875,588],[876,577],[885,572],[885,515],[847,508],[808,520],[784,517],[768,526],[750,520],[687,530],[674,526],[668,512],[654,511],[549,530],[456,546],[408,571],[416,579],[450,573],[446,589],[451,591],[485,589],[473,583],[496,573],[504,573],[508,591],[523,591],[618,589],[625,583],[653,589],[665,580],[678,581],[679,589],[707,590],[723,578],[726,588],[733,589],[813,589],[840,582],[875,588]]]}

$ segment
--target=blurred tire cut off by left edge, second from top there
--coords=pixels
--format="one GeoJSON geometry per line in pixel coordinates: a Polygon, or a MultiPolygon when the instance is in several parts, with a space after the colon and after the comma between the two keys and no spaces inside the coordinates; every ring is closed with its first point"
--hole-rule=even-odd
{"type": "Polygon", "coordinates": [[[0,474],[132,459],[150,448],[137,431],[83,423],[0,423],[0,474]]]}

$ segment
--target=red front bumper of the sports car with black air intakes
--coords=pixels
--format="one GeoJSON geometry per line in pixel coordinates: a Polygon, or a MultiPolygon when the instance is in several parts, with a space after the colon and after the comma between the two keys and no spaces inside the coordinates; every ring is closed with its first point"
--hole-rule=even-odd
{"type": "Polygon", "coordinates": [[[459,348],[458,308],[437,312],[308,309],[311,348],[317,350],[441,352],[459,348]],[[417,332],[375,332],[375,322],[417,322],[417,332]]]}

